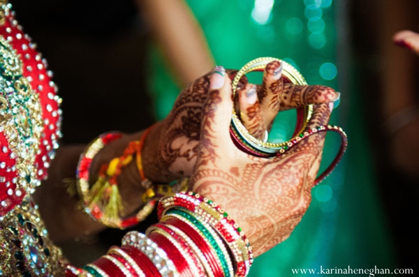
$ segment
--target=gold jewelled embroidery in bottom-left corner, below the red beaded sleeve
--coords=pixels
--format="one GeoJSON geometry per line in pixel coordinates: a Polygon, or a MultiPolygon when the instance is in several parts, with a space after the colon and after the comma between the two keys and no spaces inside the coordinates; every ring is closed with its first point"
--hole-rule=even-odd
{"type": "Polygon", "coordinates": [[[0,220],[0,276],[64,276],[68,262],[25,197],[0,220]],[[31,274],[31,275],[29,275],[31,274]]]}

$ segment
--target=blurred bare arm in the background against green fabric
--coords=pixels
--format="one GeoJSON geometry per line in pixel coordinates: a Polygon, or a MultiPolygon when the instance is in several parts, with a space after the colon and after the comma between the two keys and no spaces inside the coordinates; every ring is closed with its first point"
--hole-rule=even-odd
{"type": "Polygon", "coordinates": [[[214,67],[203,31],[183,0],[137,3],[180,87],[214,67]]]}

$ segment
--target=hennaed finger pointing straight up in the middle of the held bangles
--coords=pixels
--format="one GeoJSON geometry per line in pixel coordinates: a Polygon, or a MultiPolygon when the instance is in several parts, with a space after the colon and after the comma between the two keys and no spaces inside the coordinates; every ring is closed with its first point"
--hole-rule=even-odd
{"type": "Polygon", "coordinates": [[[281,104],[282,81],[282,63],[272,61],[267,64],[263,71],[263,84],[258,92],[260,110],[263,114],[263,123],[270,128],[272,121],[279,112],[281,104]]]}

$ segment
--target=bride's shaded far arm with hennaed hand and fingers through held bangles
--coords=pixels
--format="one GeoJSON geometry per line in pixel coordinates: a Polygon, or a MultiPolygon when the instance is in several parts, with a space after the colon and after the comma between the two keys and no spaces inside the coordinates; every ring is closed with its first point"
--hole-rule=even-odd
{"type": "MultiPolygon", "coordinates": [[[[272,99],[280,100],[281,109],[286,110],[309,103],[327,103],[338,97],[335,91],[322,86],[287,84],[283,87],[279,85],[282,84],[281,75],[274,76],[275,68],[279,68],[279,64],[272,63],[267,68],[270,70],[265,70],[264,85],[260,87],[260,94],[265,96],[264,99],[261,99],[260,110],[258,110],[260,118],[273,120],[272,115],[276,114],[278,110],[272,110],[269,105],[265,105],[272,99]],[[294,94],[298,97],[294,97],[294,94]],[[279,95],[284,98],[275,98],[279,95]]],[[[157,183],[167,183],[192,175],[198,157],[201,118],[203,105],[208,96],[210,76],[211,74],[208,73],[186,87],[177,98],[168,117],[157,123],[145,138],[142,164],[148,179],[157,183]]],[[[251,86],[243,84],[242,87],[249,88],[251,86]]],[[[248,95],[249,93],[244,90],[240,93],[240,98],[251,97],[248,95]]],[[[258,117],[254,117],[249,112],[255,109],[251,109],[252,105],[246,104],[249,103],[248,101],[241,102],[244,104],[240,109],[248,114],[244,124],[246,126],[255,125],[257,122],[250,123],[250,121],[254,121],[258,117]]],[[[253,105],[258,105],[258,102],[253,105]]],[[[279,109],[279,105],[276,106],[279,109]]],[[[270,122],[267,121],[266,124],[268,126],[270,122]]],[[[263,128],[266,127],[263,126],[263,128]]],[[[92,181],[96,179],[95,176],[97,176],[101,165],[108,164],[112,158],[121,156],[128,143],[138,140],[141,135],[142,131],[133,135],[124,135],[121,139],[111,142],[99,151],[91,165],[92,181]]],[[[50,236],[55,241],[98,232],[104,228],[100,223],[91,220],[80,209],[75,208],[79,202],[78,197],[71,198],[66,193],[66,186],[62,184],[62,179],[74,177],[78,157],[82,151],[84,151],[84,147],[60,149],[56,160],[50,167],[50,178],[36,193],[36,202],[40,206],[41,216],[45,220],[45,225],[50,228],[50,236]]],[[[118,184],[122,200],[127,207],[126,210],[134,211],[141,207],[141,195],[145,188],[140,185],[141,178],[135,163],[130,163],[122,171],[118,184]]]]}

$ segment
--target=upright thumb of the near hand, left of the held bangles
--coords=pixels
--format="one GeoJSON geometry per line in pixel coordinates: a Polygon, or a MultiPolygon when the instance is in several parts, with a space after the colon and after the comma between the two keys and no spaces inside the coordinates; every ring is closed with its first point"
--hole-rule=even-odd
{"type": "Polygon", "coordinates": [[[230,121],[233,110],[231,82],[226,70],[216,66],[210,77],[210,88],[203,106],[200,133],[200,159],[215,160],[221,149],[233,144],[230,121]]]}

